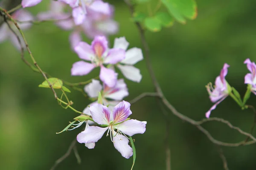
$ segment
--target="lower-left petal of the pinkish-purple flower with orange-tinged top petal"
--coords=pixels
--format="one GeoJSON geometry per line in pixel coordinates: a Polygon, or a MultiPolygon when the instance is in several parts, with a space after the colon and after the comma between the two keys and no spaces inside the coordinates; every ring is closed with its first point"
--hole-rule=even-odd
{"type": "Polygon", "coordinates": [[[72,76],[84,76],[95,68],[95,65],[84,61],[75,62],[71,68],[72,76]]]}

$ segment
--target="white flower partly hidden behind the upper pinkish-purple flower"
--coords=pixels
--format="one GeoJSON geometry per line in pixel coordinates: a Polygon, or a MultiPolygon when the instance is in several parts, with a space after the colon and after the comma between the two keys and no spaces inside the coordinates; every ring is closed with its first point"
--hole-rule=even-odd
{"type": "MultiPolygon", "coordinates": [[[[119,37],[115,39],[114,48],[121,48],[125,51],[129,46],[129,42],[126,41],[125,37],[119,37]]],[[[140,82],[142,75],[140,74],[140,69],[134,67],[133,65],[143,59],[142,50],[140,48],[134,47],[128,49],[125,52],[125,59],[123,59],[117,66],[122,74],[129,80],[134,82],[140,82]]]]}

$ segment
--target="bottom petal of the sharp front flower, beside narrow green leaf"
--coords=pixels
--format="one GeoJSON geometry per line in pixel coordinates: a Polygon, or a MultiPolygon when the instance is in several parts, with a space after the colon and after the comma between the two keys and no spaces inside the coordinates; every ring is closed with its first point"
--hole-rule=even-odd
{"type": "Polygon", "coordinates": [[[128,143],[129,143],[129,140],[123,135],[116,134],[116,136],[113,137],[114,147],[126,159],[130,158],[133,155],[132,148],[128,143]]]}

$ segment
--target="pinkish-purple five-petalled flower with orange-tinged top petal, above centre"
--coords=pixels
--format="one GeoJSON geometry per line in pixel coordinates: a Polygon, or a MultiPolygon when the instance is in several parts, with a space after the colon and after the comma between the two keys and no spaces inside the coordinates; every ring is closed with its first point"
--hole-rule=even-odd
{"type": "Polygon", "coordinates": [[[73,64],[71,75],[84,76],[94,68],[100,67],[99,78],[108,87],[114,87],[117,81],[117,73],[103,64],[116,64],[125,59],[125,50],[121,48],[108,49],[108,41],[104,36],[96,36],[91,45],[79,42],[75,47],[79,58],[90,61],[79,61],[73,64]]]}

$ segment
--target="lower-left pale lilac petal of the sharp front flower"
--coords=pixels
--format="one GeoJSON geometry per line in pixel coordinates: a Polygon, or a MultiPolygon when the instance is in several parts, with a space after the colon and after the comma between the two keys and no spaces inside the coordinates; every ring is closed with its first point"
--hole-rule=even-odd
{"type": "Polygon", "coordinates": [[[108,130],[108,127],[102,128],[98,126],[90,126],[79,133],[76,139],[79,143],[95,143],[102,138],[106,130],[108,130]]]}

